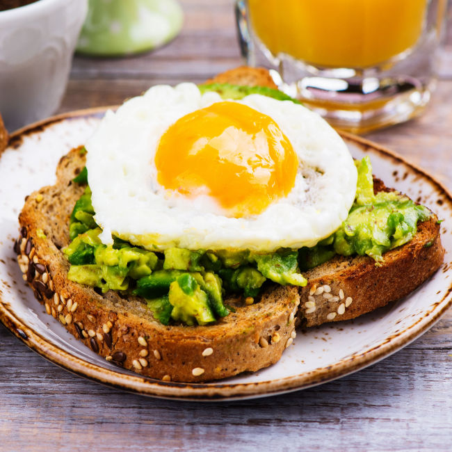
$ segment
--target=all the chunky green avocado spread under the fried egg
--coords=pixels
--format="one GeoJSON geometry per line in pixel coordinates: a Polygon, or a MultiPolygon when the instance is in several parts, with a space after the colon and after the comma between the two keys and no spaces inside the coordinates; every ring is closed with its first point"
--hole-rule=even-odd
{"type": "MultiPolygon", "coordinates": [[[[229,99],[257,92],[277,99],[293,100],[269,88],[217,84],[200,86],[229,99]]],[[[208,325],[227,316],[232,307],[223,298],[236,293],[255,298],[267,281],[305,286],[300,272],[328,261],[334,255],[368,255],[376,265],[384,253],[417,232],[417,223],[430,211],[396,191],[374,194],[369,157],[355,162],[357,191],[348,217],[331,236],[313,248],[280,249],[259,254],[249,250],[185,250],[168,248],[152,252],[114,238],[113,245],[99,239],[86,168],[74,183],[86,185],[70,216],[71,243],[63,249],[70,262],[68,277],[97,291],[120,291],[144,298],[156,320],[185,325],[208,325]]]]}

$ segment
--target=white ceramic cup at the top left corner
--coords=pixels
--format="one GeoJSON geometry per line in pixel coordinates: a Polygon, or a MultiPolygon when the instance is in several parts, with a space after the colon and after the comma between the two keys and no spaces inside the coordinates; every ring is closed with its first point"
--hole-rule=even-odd
{"type": "Polygon", "coordinates": [[[38,0],[0,12],[0,113],[9,131],[56,111],[88,0],[38,0]]]}

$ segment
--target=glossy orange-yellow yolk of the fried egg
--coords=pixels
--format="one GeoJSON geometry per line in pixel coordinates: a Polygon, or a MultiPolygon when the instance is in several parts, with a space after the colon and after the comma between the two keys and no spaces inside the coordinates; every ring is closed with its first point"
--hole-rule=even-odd
{"type": "Polygon", "coordinates": [[[298,157],[268,115],[237,102],[193,111],[163,134],[157,180],[188,197],[209,195],[227,216],[257,215],[289,194],[298,157]]]}

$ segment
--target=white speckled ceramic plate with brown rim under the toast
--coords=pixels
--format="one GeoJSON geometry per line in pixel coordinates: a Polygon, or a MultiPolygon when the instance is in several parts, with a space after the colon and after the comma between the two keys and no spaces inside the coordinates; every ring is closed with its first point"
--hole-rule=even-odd
{"type": "Polygon", "coordinates": [[[207,384],[162,382],[109,364],[77,341],[25,286],[13,242],[24,197],[55,181],[58,159],[92,133],[104,108],[68,113],[18,131],[0,156],[0,319],[29,347],[81,376],[149,396],[218,400],[270,396],[339,378],[394,353],[426,332],[452,300],[452,198],[433,177],[400,156],[344,134],[356,158],[371,156],[373,172],[435,211],[446,248],[443,266],[410,296],[355,321],[299,332],[280,362],[252,374],[207,384]]]}

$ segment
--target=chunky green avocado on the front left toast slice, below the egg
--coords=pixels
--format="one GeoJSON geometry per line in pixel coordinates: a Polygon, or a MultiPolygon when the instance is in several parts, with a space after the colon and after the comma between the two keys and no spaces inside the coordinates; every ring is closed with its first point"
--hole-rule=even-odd
{"type": "Polygon", "coordinates": [[[297,250],[257,255],[248,250],[168,248],[162,253],[117,238],[113,245],[104,245],[101,232],[87,186],[70,217],[72,242],[63,250],[71,264],[69,279],[103,293],[112,289],[143,297],[163,324],[171,318],[187,325],[216,321],[229,314],[223,303],[226,293],[255,297],[267,279],[307,283],[299,273],[297,250]]]}

